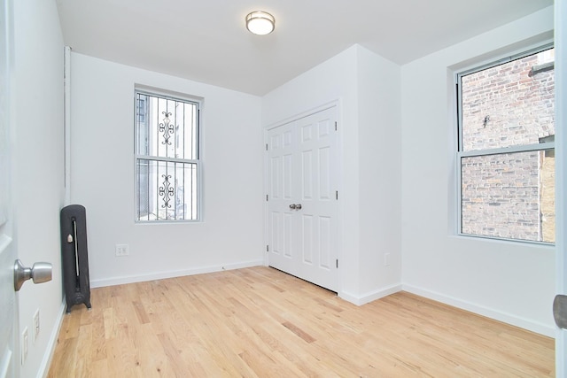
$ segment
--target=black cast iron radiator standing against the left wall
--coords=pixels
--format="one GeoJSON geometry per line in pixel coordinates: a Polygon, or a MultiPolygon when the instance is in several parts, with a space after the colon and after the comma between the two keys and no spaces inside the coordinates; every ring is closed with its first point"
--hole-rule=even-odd
{"type": "Polygon", "coordinates": [[[81,204],[69,204],[61,209],[61,262],[67,313],[73,305],[90,308],[87,218],[81,204]]]}

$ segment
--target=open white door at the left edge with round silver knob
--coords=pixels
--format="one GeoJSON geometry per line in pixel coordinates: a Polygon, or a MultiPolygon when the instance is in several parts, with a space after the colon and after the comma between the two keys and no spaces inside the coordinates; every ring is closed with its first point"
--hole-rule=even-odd
{"type": "Polygon", "coordinates": [[[18,376],[16,349],[18,306],[13,282],[16,259],[12,242],[10,196],[10,29],[9,0],[0,0],[0,378],[18,376]]]}

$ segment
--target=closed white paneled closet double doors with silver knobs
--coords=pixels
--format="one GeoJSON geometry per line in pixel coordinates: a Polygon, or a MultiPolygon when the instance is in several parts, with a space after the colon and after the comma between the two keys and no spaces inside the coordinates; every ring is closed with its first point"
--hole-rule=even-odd
{"type": "Polygon", "coordinates": [[[338,291],[337,107],[267,135],[268,265],[338,291]]]}

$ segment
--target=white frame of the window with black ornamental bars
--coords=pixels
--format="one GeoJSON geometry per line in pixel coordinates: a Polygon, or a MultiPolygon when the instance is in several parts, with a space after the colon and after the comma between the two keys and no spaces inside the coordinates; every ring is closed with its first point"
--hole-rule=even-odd
{"type": "Polygon", "coordinates": [[[166,89],[157,89],[154,87],[148,87],[144,85],[136,85],[134,89],[134,120],[132,124],[134,125],[134,220],[136,224],[163,224],[163,223],[201,223],[203,222],[203,204],[204,204],[204,194],[203,194],[203,143],[202,143],[202,127],[203,127],[203,107],[204,99],[198,96],[189,96],[183,93],[169,91],[166,89]],[[166,98],[174,101],[183,101],[187,103],[197,104],[198,115],[197,115],[197,158],[196,159],[180,159],[180,158],[160,158],[152,157],[150,155],[138,154],[137,150],[137,139],[138,139],[138,127],[136,126],[136,115],[137,115],[137,95],[148,95],[148,96],[158,96],[160,98],[166,98]],[[138,220],[138,204],[136,201],[138,192],[138,174],[137,174],[137,162],[138,160],[154,160],[154,161],[167,161],[167,162],[179,162],[179,163],[190,163],[197,166],[197,218],[190,220],[138,220]]]}

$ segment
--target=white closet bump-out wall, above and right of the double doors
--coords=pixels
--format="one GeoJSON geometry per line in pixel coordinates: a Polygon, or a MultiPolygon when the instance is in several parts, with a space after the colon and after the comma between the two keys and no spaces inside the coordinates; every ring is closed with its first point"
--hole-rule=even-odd
{"type": "Polygon", "coordinates": [[[339,295],[362,304],[400,284],[400,215],[393,210],[400,208],[399,67],[354,45],[264,96],[262,126],[336,100],[342,140],[339,295]],[[391,253],[389,267],[385,252],[391,253]]]}

